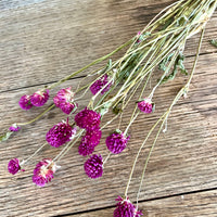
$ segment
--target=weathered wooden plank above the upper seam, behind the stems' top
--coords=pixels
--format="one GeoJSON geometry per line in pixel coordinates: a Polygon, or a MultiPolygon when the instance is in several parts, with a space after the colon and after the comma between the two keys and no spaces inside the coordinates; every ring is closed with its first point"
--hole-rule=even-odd
{"type": "MultiPolygon", "coordinates": [[[[0,91],[52,82],[79,69],[127,41],[169,2],[1,1],[0,91]]],[[[217,38],[216,28],[215,14],[203,53],[216,51],[208,42],[217,38]]],[[[188,55],[197,38],[189,41],[188,55]]]]}

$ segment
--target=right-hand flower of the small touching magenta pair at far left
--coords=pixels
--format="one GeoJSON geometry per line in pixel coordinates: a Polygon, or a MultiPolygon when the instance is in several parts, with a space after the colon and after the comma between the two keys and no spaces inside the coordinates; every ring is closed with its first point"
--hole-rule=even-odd
{"type": "Polygon", "coordinates": [[[46,91],[38,90],[30,97],[30,102],[33,105],[40,107],[43,104],[46,104],[48,99],[49,99],[49,90],[46,91]]]}

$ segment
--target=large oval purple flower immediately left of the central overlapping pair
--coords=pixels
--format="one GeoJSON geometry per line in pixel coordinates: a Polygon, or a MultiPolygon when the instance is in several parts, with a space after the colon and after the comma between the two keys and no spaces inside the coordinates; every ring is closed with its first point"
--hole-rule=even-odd
{"type": "Polygon", "coordinates": [[[73,131],[72,127],[67,123],[59,123],[54,125],[46,135],[46,140],[51,146],[59,148],[65,142],[71,141],[73,133],[76,133],[76,130],[73,131]]]}

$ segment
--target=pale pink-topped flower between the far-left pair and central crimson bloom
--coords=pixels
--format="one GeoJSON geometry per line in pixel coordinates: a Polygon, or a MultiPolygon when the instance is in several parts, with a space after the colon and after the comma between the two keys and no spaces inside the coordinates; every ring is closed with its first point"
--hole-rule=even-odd
{"type": "Polygon", "coordinates": [[[55,106],[60,107],[67,115],[69,115],[77,107],[77,103],[74,102],[75,93],[71,89],[71,87],[61,89],[53,98],[55,106]]]}

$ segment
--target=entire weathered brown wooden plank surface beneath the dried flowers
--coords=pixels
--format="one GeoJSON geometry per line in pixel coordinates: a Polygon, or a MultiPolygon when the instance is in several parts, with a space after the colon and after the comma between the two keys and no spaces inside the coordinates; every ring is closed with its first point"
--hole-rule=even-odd
{"type": "MultiPolygon", "coordinates": [[[[12,123],[31,119],[48,105],[24,112],[17,102],[75,72],[122,44],[139,30],[170,0],[1,0],[0,1],[0,129],[12,123]]],[[[174,107],[168,131],[161,135],[148,166],[139,207],[144,216],[217,216],[217,49],[208,40],[217,38],[217,13],[208,23],[195,76],[187,99],[174,107]]],[[[186,66],[191,68],[199,35],[188,41],[186,66]]],[[[116,56],[120,56],[117,54],[116,56]]],[[[87,74],[88,72],[86,72],[87,74]]],[[[61,87],[75,87],[82,78],[61,87]]],[[[115,197],[123,195],[137,150],[150,127],[182,87],[177,77],[156,92],[156,112],[141,115],[130,129],[131,139],[120,155],[112,155],[104,175],[97,180],[82,170],[85,157],[77,146],[61,161],[62,168],[44,188],[31,182],[34,165],[54,157],[60,150],[46,146],[25,173],[7,171],[10,158],[26,158],[44,142],[50,127],[65,116],[52,110],[36,124],[25,126],[8,142],[0,143],[0,216],[113,216],[115,197]]],[[[51,92],[52,103],[58,88],[51,92]]],[[[85,107],[87,95],[78,101],[85,107]]],[[[124,116],[129,120],[130,111],[124,116]]],[[[105,118],[108,119],[110,117],[105,118]]],[[[106,155],[104,139],[117,122],[103,130],[97,152],[106,155]]],[[[124,124],[125,125],[125,124],[124,124]]],[[[124,127],[123,125],[123,127],[124,127]]],[[[152,138],[153,139],[153,138],[152,138]]],[[[129,196],[136,201],[142,152],[129,196]]]]}

